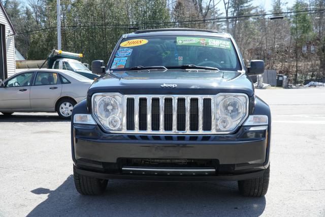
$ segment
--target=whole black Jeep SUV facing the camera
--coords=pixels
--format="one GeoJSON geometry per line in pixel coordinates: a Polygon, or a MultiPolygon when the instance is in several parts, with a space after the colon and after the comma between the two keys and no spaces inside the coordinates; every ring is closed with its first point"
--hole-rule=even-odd
{"type": "Polygon", "coordinates": [[[267,193],[271,114],[255,96],[229,34],[151,29],[123,35],[72,118],[76,189],[105,191],[108,179],[238,180],[244,196],[267,193]]]}

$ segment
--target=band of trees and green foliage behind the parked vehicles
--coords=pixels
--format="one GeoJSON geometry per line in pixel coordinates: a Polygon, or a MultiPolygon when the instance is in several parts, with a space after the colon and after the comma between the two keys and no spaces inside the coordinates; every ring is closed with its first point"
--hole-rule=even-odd
{"type": "MultiPolygon", "coordinates": [[[[83,53],[85,63],[95,59],[107,62],[121,35],[136,29],[207,28],[231,33],[245,63],[263,59],[268,69],[289,76],[298,75],[299,71],[303,76],[298,79],[308,77],[309,72],[311,77],[325,77],[323,13],[285,14],[286,10],[324,8],[324,0],[310,0],[308,4],[298,0],[290,9],[285,9],[284,0],[272,0],[272,12],[284,16],[276,20],[268,16],[211,20],[224,17],[221,10],[226,10],[230,17],[268,13],[254,7],[252,0],[60,1],[62,50],[83,53]],[[308,55],[302,53],[304,45],[308,55]],[[299,66],[295,70],[297,59],[299,66]]],[[[57,46],[56,0],[3,0],[2,3],[18,33],[16,48],[27,59],[45,59],[57,46]]]]}

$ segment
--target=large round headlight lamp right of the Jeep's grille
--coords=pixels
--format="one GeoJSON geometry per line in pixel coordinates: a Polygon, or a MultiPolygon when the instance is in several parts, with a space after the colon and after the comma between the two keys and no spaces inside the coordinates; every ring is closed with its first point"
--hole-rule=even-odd
{"type": "Polygon", "coordinates": [[[218,107],[221,116],[229,116],[232,120],[238,120],[244,113],[243,103],[236,97],[224,98],[218,107]]]}

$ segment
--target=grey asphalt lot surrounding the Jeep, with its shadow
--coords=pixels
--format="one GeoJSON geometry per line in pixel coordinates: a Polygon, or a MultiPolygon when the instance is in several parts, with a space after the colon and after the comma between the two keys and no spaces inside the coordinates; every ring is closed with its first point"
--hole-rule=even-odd
{"type": "Polygon", "coordinates": [[[256,90],[272,109],[266,197],[237,182],[110,180],[80,196],[72,176],[70,122],[56,114],[0,115],[0,216],[325,216],[325,88],[256,90]]]}

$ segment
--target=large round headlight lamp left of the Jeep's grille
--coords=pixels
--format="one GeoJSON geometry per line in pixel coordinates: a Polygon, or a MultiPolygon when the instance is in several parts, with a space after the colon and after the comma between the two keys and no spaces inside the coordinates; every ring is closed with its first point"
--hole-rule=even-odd
{"type": "Polygon", "coordinates": [[[112,115],[118,115],[120,105],[113,97],[103,97],[96,106],[96,113],[102,119],[107,119],[112,115]]]}

